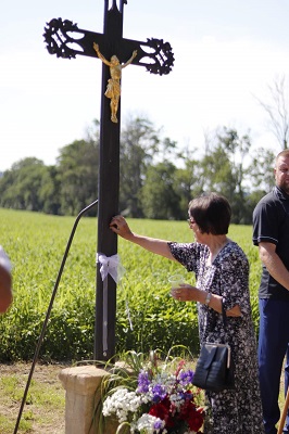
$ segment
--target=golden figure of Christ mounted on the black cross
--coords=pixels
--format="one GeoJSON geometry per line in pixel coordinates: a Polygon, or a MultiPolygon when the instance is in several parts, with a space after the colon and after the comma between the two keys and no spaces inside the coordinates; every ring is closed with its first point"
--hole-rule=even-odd
{"type": "Polygon", "coordinates": [[[117,123],[117,108],[118,102],[121,98],[121,78],[122,78],[122,69],[129,65],[137,55],[137,50],[133,52],[131,58],[124,64],[120,63],[120,60],[116,55],[111,56],[111,61],[108,61],[99,51],[98,43],[93,42],[93,49],[97,52],[99,59],[108,66],[110,66],[111,78],[108,81],[108,87],[105,91],[105,97],[111,99],[111,120],[117,123]]]}

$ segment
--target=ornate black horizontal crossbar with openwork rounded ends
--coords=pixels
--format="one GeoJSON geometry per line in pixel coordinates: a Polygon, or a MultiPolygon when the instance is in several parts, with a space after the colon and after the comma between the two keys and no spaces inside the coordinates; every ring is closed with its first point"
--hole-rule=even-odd
{"type": "Polygon", "coordinates": [[[43,37],[48,52],[63,59],[75,59],[77,54],[97,58],[93,50],[93,42],[97,42],[104,56],[115,54],[121,63],[137,50],[131,63],[144,66],[152,74],[169,74],[175,60],[169,42],[163,39],[151,38],[143,42],[122,38],[108,42],[105,35],[78,28],[70,20],[51,20],[45,27],[43,37]]]}

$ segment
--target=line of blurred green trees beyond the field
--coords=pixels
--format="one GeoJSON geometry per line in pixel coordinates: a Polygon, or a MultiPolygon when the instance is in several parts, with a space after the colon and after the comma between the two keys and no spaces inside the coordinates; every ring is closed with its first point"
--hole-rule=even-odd
{"type": "MultiPolygon", "coordinates": [[[[14,163],[0,178],[0,206],[77,215],[98,197],[99,146],[95,120],[84,139],[60,150],[55,165],[35,157],[14,163]]],[[[275,157],[251,146],[249,132],[224,127],[204,146],[180,149],[148,118],[130,117],[121,132],[120,213],[181,220],[192,197],[215,191],[229,200],[233,222],[251,224],[255,204],[274,186],[275,157]]]]}

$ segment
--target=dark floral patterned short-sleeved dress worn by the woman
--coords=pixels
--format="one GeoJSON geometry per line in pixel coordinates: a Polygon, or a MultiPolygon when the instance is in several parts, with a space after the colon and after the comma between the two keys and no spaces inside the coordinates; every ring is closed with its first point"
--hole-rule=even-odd
{"type": "Polygon", "coordinates": [[[205,434],[264,433],[257,378],[256,340],[251,317],[249,263],[242,250],[229,241],[208,265],[209,247],[204,244],[168,243],[173,256],[188,271],[196,273],[196,286],[222,295],[225,310],[239,305],[241,317],[223,317],[198,303],[200,344],[228,343],[235,361],[233,391],[206,392],[211,420],[205,434]]]}

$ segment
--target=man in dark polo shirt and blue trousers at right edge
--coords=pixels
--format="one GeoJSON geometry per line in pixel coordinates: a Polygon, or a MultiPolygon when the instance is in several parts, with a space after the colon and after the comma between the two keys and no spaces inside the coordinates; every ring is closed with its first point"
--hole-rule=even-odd
{"type": "MultiPolygon", "coordinates": [[[[253,243],[263,265],[259,289],[260,387],[266,434],[276,434],[278,396],[285,362],[285,393],[289,381],[289,150],[276,157],[276,186],[253,213],[253,243]]],[[[284,433],[289,432],[287,414],[284,433]]]]}

